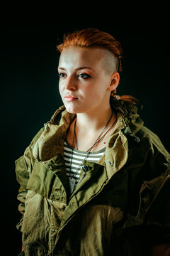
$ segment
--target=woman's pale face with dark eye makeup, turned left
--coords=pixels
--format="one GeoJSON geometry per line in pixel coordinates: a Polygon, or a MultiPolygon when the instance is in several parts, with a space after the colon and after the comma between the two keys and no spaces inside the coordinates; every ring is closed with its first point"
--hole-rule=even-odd
{"type": "Polygon", "coordinates": [[[112,78],[103,65],[107,54],[101,48],[69,46],[62,50],[59,90],[68,112],[84,113],[109,107],[112,78]]]}

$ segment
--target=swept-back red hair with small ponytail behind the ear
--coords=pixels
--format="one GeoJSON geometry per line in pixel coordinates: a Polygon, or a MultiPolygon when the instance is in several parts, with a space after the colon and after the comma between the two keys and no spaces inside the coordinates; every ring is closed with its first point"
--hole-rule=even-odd
{"type": "MultiPolygon", "coordinates": [[[[97,28],[87,28],[74,33],[69,33],[64,36],[63,43],[57,46],[57,50],[62,52],[64,48],[69,46],[79,46],[84,48],[104,48],[109,50],[113,56],[118,60],[118,72],[123,70],[123,49],[120,42],[116,41],[113,36],[107,32],[98,30],[97,28]]],[[[113,97],[116,97],[116,89],[111,93],[113,97]]],[[[118,97],[120,100],[125,100],[136,104],[139,102],[135,97],[131,95],[122,95],[118,97]]]]}

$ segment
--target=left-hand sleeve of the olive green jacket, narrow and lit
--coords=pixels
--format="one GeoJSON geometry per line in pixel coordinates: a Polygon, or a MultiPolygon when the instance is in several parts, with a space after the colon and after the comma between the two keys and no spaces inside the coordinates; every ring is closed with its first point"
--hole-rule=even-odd
{"type": "Polygon", "coordinates": [[[26,201],[26,195],[27,195],[27,183],[30,178],[30,174],[32,172],[33,164],[35,161],[32,154],[32,149],[35,142],[37,142],[38,138],[42,134],[43,130],[44,130],[44,127],[40,129],[38,134],[35,135],[30,145],[24,151],[23,156],[21,156],[19,159],[15,161],[16,180],[18,181],[20,186],[18,189],[18,196],[17,196],[17,199],[20,202],[18,206],[18,210],[22,215],[20,222],[16,225],[16,228],[18,230],[21,230],[22,223],[23,223],[23,215],[25,212],[25,201],[26,201]]]}

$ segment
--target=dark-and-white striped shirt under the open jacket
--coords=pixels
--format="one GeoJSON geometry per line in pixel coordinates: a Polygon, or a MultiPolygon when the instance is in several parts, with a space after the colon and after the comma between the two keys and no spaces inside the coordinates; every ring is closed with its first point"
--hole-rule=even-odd
{"type": "Polygon", "coordinates": [[[70,177],[74,176],[77,185],[81,172],[80,167],[84,159],[97,163],[105,153],[105,149],[106,147],[96,152],[90,152],[89,156],[86,158],[88,154],[86,151],[80,151],[72,148],[66,140],[64,142],[64,161],[68,180],[70,177]]]}

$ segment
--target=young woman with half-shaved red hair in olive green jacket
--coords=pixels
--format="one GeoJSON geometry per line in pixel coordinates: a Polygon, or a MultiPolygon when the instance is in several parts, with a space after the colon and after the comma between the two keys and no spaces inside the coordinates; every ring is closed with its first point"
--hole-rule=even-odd
{"type": "Polygon", "coordinates": [[[116,95],[120,43],[85,29],[57,49],[64,106],[16,160],[21,255],[169,255],[170,156],[116,95]]]}

